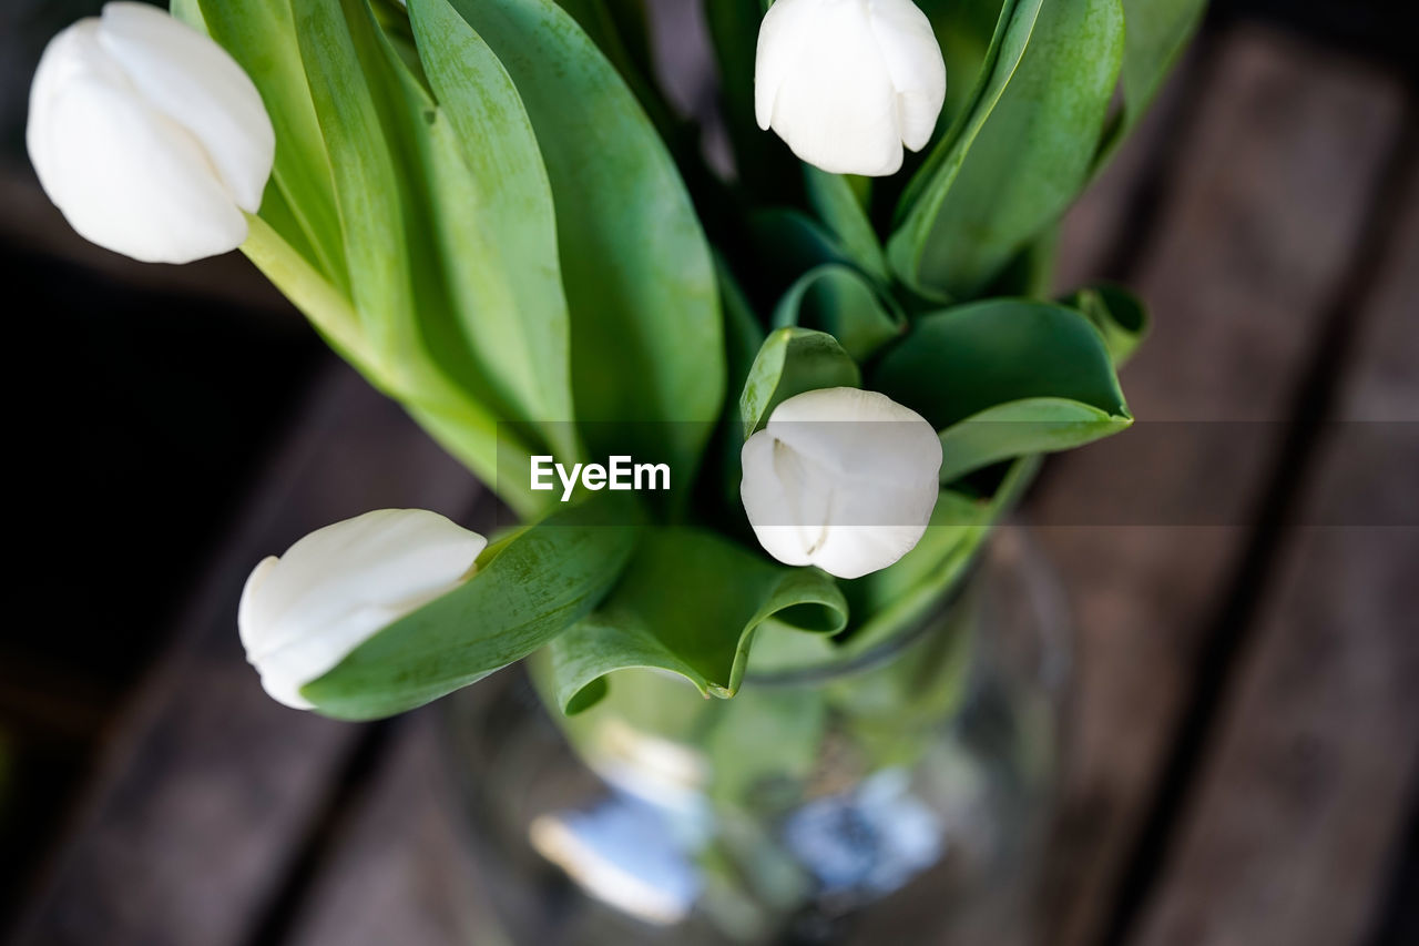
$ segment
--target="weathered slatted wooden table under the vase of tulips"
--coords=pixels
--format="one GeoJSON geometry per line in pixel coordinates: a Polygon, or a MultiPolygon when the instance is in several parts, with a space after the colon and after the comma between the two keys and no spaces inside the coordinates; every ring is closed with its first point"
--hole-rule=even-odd
{"type": "MultiPolygon", "coordinates": [[[[1067,222],[1061,286],[1124,280],[1156,328],[1124,378],[1139,425],[1056,459],[1026,510],[1077,638],[1039,943],[1419,942],[1416,129],[1396,75],[1226,24],[1067,222]]],[[[95,724],[17,942],[499,942],[430,713],[288,712],[233,616],[309,528],[478,499],[325,364],[95,724]]]]}

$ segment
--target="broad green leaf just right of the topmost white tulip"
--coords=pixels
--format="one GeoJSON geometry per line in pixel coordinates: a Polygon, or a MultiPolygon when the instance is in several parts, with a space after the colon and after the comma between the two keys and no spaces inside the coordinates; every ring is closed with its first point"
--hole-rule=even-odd
{"type": "Polygon", "coordinates": [[[1091,173],[1124,50],[1120,0],[1002,10],[975,102],[908,189],[888,241],[898,276],[968,298],[1047,227],[1091,173]]]}

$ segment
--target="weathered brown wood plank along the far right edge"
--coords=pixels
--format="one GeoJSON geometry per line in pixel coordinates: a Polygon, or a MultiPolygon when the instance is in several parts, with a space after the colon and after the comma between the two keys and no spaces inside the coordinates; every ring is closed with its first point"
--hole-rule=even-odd
{"type": "Polygon", "coordinates": [[[1419,777],[1416,300],[1419,175],[1142,946],[1348,946],[1374,922],[1419,777]]]}

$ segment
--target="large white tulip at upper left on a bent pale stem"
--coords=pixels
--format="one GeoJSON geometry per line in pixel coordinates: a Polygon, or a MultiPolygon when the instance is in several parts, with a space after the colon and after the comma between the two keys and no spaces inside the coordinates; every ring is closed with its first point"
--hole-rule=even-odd
{"type": "Polygon", "coordinates": [[[237,249],[275,132],[226,50],[145,3],[50,41],[30,88],[30,161],[79,236],[145,263],[237,249]]]}

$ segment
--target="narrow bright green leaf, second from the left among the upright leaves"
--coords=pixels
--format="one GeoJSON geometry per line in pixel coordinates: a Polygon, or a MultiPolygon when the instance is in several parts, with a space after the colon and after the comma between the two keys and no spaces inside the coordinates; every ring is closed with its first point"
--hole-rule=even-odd
{"type": "MultiPolygon", "coordinates": [[[[410,85],[365,0],[294,0],[295,30],[341,212],[350,293],[383,391],[485,482],[497,482],[499,433],[444,283],[410,85]],[[393,247],[393,251],[390,251],[393,247]]],[[[209,13],[210,20],[210,13],[209,13]]],[[[518,449],[521,445],[518,445],[518,449]]],[[[519,513],[538,504],[504,493],[519,513]]]]}

